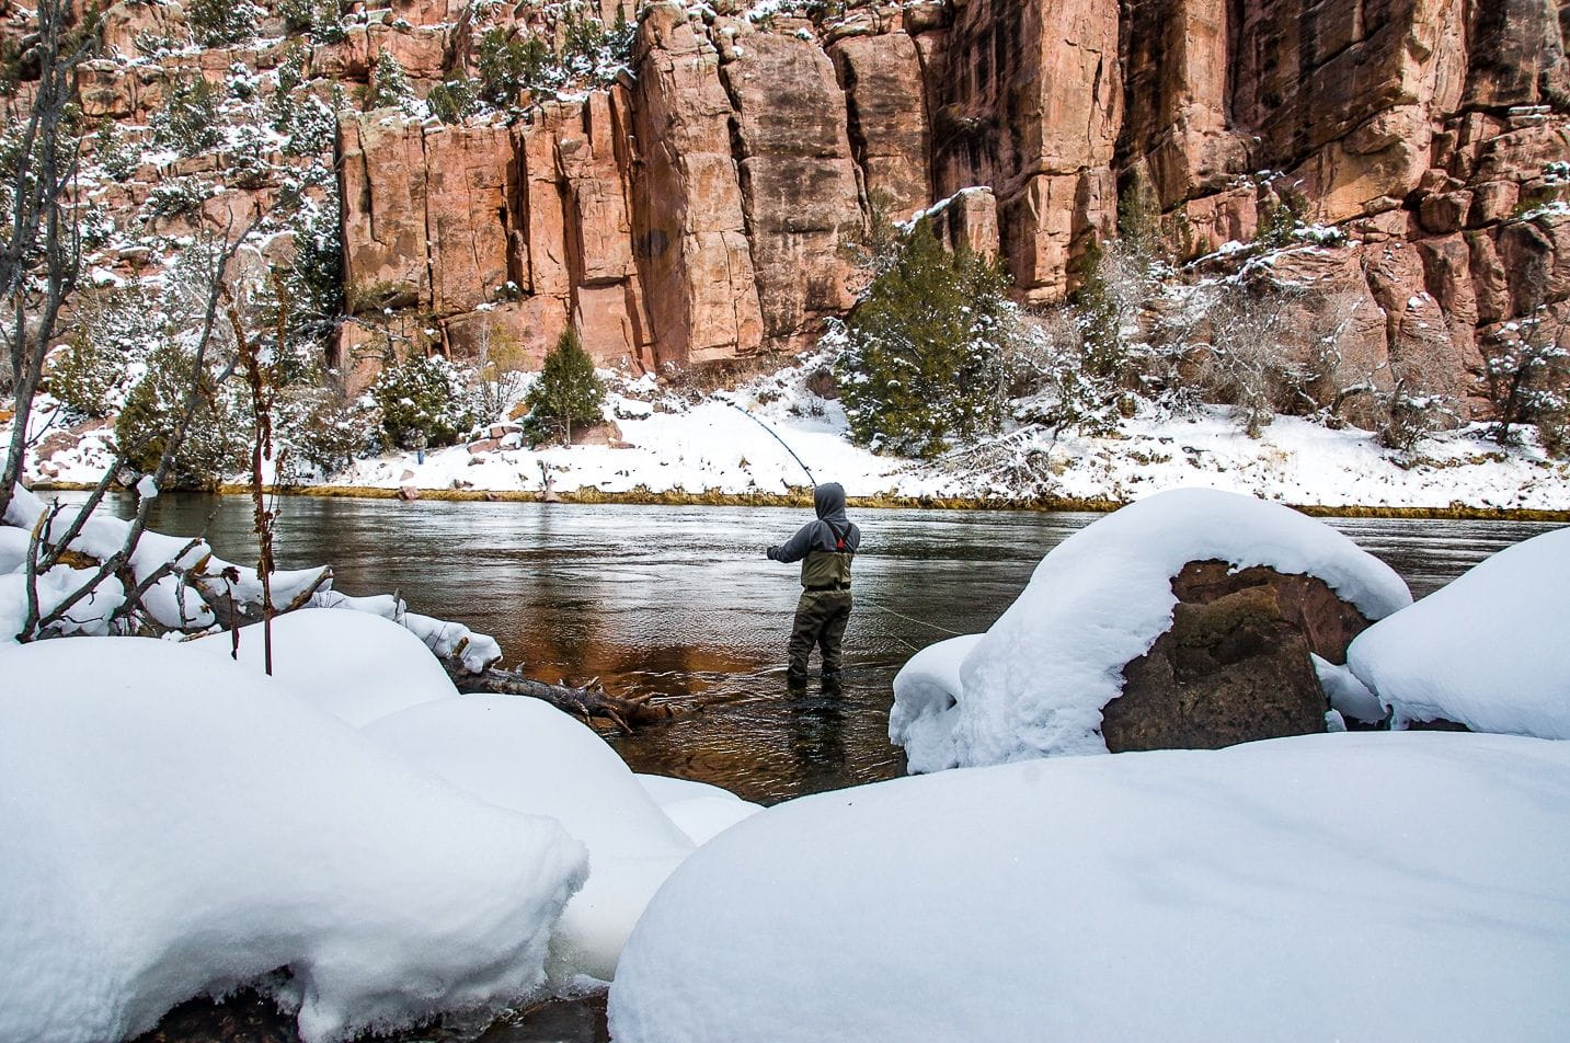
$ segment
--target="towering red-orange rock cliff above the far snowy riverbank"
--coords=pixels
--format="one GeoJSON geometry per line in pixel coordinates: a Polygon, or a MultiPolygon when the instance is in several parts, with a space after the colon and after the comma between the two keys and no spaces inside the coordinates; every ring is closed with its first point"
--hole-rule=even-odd
{"type": "MultiPolygon", "coordinates": [[[[907,215],[950,199],[944,234],[1000,251],[1017,294],[1047,303],[1074,289],[1135,187],[1185,259],[1253,239],[1289,199],[1336,226],[1280,254],[1273,278],[1325,291],[1344,350],[1371,371],[1422,360],[1462,391],[1506,324],[1570,297],[1570,3],[725,11],[600,0],[608,25],[637,19],[626,68],[523,97],[512,118],[447,126],[336,94],[350,311],[410,316],[460,358],[496,338],[539,358],[567,324],[598,358],[642,368],[791,352],[853,303],[846,245],[873,201],[907,215]]],[[[383,52],[424,97],[476,72],[482,28],[540,31],[539,5],[396,0],[350,8],[334,42],[287,39],[264,9],[259,42],[149,53],[182,17],[176,3],[110,8],[111,57],[82,83],[89,115],[141,126],[171,77],[268,74],[301,46],[323,99],[366,82],[383,52]]],[[[278,190],[229,173],[221,149],[144,163],[100,203],[126,232],[170,177],[215,185],[192,225],[278,190]]],[[[127,247],[107,265],[143,262],[127,247]]],[[[339,360],[353,366],[372,336],[345,322],[339,360]]]]}

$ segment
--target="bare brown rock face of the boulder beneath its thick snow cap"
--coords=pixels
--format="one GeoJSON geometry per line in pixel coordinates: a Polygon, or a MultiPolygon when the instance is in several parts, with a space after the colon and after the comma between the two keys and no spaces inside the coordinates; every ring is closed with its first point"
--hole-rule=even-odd
{"type": "Polygon", "coordinates": [[[1309,652],[1344,663],[1367,628],[1322,580],[1195,561],[1173,580],[1173,627],[1124,666],[1102,710],[1107,749],[1217,749],[1325,730],[1309,652]]]}

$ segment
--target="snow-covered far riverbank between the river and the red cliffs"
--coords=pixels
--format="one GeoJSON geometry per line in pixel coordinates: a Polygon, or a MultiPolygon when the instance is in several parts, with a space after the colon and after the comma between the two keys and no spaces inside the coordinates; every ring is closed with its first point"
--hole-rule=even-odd
{"type": "MultiPolygon", "coordinates": [[[[416,459],[361,459],[308,485],[425,493],[535,493],[542,465],[559,493],[590,498],[771,498],[807,484],[777,432],[820,481],[889,501],[1129,503],[1176,487],[1251,493],[1322,507],[1570,511],[1570,462],[1531,445],[1499,446],[1485,426],[1422,441],[1410,454],[1372,434],[1281,416],[1248,438],[1226,408],[1137,416],[1108,437],[1020,430],[934,462],[876,456],[851,445],[838,402],[807,390],[812,364],[758,377],[735,393],[699,393],[652,377],[608,396],[609,445],[518,445],[509,426],[416,459]],[[746,412],[744,412],[746,410],[746,412]],[[750,415],[749,415],[750,413],[750,415]],[[761,424],[758,423],[761,421],[761,424]],[[766,424],[768,427],[765,427],[766,424]]],[[[30,460],[44,484],[93,482],[108,463],[108,430],[30,460]]]]}

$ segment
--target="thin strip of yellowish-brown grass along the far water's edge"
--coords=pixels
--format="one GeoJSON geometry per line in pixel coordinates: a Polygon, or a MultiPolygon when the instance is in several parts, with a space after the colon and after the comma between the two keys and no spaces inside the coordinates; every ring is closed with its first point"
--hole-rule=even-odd
{"type": "MultiPolygon", "coordinates": [[[[88,482],[35,482],[36,493],[60,492],[91,492],[88,482]]],[[[540,493],[529,489],[419,489],[419,500],[436,503],[540,503],[540,493]]],[[[225,484],[217,490],[171,490],[171,492],[217,492],[220,496],[250,496],[248,485],[225,484]]],[[[317,500],[399,500],[399,489],[380,485],[290,485],[283,489],[268,487],[268,495],[303,496],[317,500]]],[[[810,507],[812,490],[799,487],[790,493],[735,493],[717,489],[689,492],[685,489],[653,490],[647,487],[625,492],[600,489],[556,490],[562,504],[568,506],[626,506],[626,507],[810,507]]],[[[1003,500],[989,496],[849,496],[849,506],[873,511],[1086,511],[1112,512],[1132,501],[1116,500],[1072,500],[1061,496],[1038,496],[1035,500],[1003,500]]],[[[1440,507],[1424,506],[1388,506],[1388,504],[1283,504],[1316,518],[1411,518],[1411,520],[1457,520],[1457,522],[1570,522],[1570,507],[1481,507],[1473,504],[1452,503],[1440,507]]]]}

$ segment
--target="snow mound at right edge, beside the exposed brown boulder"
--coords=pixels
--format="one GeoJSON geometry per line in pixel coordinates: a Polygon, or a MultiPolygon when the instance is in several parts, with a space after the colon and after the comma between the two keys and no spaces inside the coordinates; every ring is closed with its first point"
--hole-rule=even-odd
{"type": "Polygon", "coordinates": [[[1347,663],[1393,727],[1570,738],[1570,528],[1534,536],[1369,627],[1347,663]]]}

